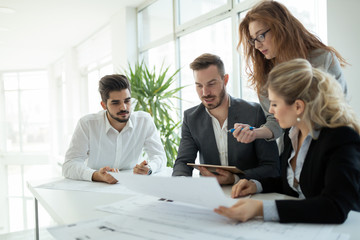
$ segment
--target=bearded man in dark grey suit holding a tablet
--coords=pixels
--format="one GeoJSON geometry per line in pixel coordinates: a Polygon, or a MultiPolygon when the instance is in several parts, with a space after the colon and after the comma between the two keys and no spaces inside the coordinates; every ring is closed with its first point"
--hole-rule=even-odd
{"type": "Polygon", "coordinates": [[[261,179],[279,175],[279,156],[275,141],[257,139],[239,143],[228,132],[235,123],[247,123],[256,128],[265,123],[260,105],[231,97],[226,92],[229,75],[222,60],[212,54],[202,54],[191,64],[196,91],[201,104],[184,112],[182,138],[173,176],[191,176],[197,153],[200,163],[236,166],[245,174],[233,174],[216,169],[216,174],[200,167],[202,176],[216,177],[220,184],[235,184],[240,178],[261,179]]]}

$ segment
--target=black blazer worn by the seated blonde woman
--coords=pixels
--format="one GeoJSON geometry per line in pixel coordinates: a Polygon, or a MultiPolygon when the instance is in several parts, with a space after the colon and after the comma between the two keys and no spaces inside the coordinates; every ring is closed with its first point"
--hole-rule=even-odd
{"type": "MultiPolygon", "coordinates": [[[[298,196],[287,182],[287,162],[292,151],[284,135],[281,177],[263,179],[263,192],[298,196]]],[[[300,174],[306,199],[277,200],[280,222],[342,223],[350,210],[360,210],[360,137],[352,128],[323,128],[312,140],[300,174]]]]}

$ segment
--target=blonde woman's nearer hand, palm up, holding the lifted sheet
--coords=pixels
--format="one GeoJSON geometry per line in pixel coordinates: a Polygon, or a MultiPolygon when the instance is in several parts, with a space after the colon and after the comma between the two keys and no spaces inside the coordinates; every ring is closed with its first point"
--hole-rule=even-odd
{"type": "Polygon", "coordinates": [[[245,222],[256,216],[264,216],[263,202],[250,198],[240,199],[230,208],[220,206],[214,209],[214,212],[241,222],[245,222]]]}

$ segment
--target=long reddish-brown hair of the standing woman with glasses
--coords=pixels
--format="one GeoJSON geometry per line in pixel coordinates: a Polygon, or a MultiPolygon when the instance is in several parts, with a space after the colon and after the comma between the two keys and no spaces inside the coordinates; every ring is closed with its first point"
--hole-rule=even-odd
{"type": "Polygon", "coordinates": [[[244,48],[246,72],[249,81],[258,94],[266,94],[267,75],[279,63],[295,58],[309,58],[310,52],[315,49],[324,49],[335,55],[341,66],[347,64],[345,59],[332,47],[323,44],[317,36],[309,32],[304,25],[295,18],[281,3],[271,0],[261,1],[255,5],[239,25],[239,43],[244,48]],[[259,21],[266,25],[272,37],[276,57],[264,58],[263,54],[248,43],[251,39],[249,25],[259,21]],[[252,70],[253,69],[253,70],[252,70]]]}

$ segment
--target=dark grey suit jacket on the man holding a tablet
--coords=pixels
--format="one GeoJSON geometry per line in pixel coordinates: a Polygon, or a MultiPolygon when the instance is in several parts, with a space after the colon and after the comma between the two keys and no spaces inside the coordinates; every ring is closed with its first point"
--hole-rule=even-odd
{"type": "MultiPolygon", "coordinates": [[[[265,123],[265,116],[260,105],[230,97],[228,127],[235,123],[247,123],[260,127],[265,123]]],[[[173,176],[191,176],[193,168],[187,163],[194,163],[197,153],[200,163],[221,165],[217,149],[212,120],[203,104],[184,112],[182,138],[175,161],[173,176]]],[[[279,176],[279,156],[275,141],[258,139],[252,143],[239,143],[228,134],[229,166],[236,166],[245,172],[241,178],[261,179],[279,176]]]]}

